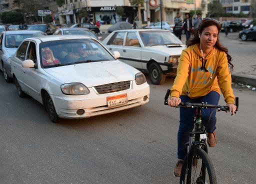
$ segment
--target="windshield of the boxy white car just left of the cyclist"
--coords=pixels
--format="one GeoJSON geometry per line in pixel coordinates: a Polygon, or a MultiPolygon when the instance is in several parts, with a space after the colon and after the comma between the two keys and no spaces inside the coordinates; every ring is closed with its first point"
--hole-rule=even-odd
{"type": "Polygon", "coordinates": [[[139,31],[145,46],[182,44],[170,31],[139,31]]]}

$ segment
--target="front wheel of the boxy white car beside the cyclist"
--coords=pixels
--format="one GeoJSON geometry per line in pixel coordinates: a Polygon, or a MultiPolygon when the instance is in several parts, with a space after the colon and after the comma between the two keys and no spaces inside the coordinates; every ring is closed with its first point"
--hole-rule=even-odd
{"type": "Polygon", "coordinates": [[[157,63],[151,63],[148,67],[149,78],[153,84],[162,84],[165,80],[165,74],[162,72],[160,66],[157,63]]]}

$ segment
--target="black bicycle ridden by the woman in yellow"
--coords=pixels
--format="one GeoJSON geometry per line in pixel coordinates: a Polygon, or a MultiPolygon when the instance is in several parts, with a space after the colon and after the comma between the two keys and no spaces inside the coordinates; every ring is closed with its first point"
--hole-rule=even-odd
{"type": "MultiPolygon", "coordinates": [[[[170,89],[167,90],[164,97],[164,104],[167,105],[167,99],[170,89]]],[[[238,110],[238,97],[235,97],[236,111],[238,110]]],[[[183,160],[180,172],[180,184],[215,184],[216,175],[212,162],[208,156],[207,132],[201,122],[201,111],[203,108],[215,108],[217,111],[229,111],[228,106],[212,105],[201,103],[179,103],[176,107],[196,108],[194,117],[194,128],[189,133],[187,145],[187,154],[183,160]]],[[[213,112],[213,111],[212,111],[213,112]]],[[[211,114],[212,114],[211,112],[211,114]]],[[[235,112],[236,113],[236,112],[235,112]]],[[[210,116],[211,116],[210,114],[210,116]]]]}

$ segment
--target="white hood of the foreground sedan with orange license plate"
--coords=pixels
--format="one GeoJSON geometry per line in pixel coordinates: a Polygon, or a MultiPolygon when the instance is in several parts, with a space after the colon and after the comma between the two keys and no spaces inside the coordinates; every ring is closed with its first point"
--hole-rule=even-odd
{"type": "Polygon", "coordinates": [[[80,82],[87,87],[134,80],[135,74],[139,72],[119,60],[71,64],[43,70],[63,83],[80,82]]]}

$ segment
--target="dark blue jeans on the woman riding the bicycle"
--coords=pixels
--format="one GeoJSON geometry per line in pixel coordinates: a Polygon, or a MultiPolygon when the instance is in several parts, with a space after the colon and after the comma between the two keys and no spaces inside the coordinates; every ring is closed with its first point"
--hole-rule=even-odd
{"type": "MultiPolygon", "coordinates": [[[[180,96],[182,102],[207,102],[209,104],[218,104],[219,93],[210,91],[205,96],[199,98],[189,98],[188,96],[180,96]]],[[[179,128],[178,128],[178,159],[184,159],[187,153],[186,142],[189,141],[189,132],[193,129],[195,108],[179,108],[179,128]]],[[[202,123],[207,132],[213,132],[216,129],[216,110],[211,108],[202,109],[202,123]],[[214,110],[212,112],[212,110],[214,110]],[[210,113],[211,117],[210,116],[210,113]],[[209,120],[209,121],[208,121],[209,120]]]]}

